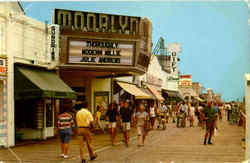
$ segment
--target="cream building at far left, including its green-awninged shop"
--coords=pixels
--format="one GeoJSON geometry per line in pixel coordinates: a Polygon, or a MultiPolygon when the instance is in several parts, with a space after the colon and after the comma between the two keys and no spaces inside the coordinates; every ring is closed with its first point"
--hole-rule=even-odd
{"type": "Polygon", "coordinates": [[[59,61],[58,36],[58,26],[27,17],[19,2],[0,4],[0,145],[14,146],[20,135],[22,139],[54,135],[58,100],[56,88],[49,85],[57,81],[62,90],[67,88],[50,71],[59,61]],[[48,81],[43,83],[41,76],[48,81]]]}

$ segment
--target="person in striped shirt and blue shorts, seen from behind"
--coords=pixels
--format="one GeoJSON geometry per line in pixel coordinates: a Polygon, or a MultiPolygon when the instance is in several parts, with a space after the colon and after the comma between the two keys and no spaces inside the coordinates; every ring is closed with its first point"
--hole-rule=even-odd
{"type": "Polygon", "coordinates": [[[68,113],[69,108],[63,108],[61,114],[58,116],[58,129],[61,140],[61,154],[63,158],[69,158],[69,141],[72,134],[72,127],[74,127],[73,117],[68,113]]]}

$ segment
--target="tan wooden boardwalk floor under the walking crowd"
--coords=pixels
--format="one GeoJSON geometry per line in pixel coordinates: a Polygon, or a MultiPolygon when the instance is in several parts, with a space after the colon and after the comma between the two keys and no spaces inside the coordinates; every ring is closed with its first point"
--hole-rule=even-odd
{"type": "MultiPolygon", "coordinates": [[[[195,128],[176,128],[175,124],[168,124],[166,131],[152,131],[145,147],[137,147],[136,139],[131,141],[129,148],[123,144],[115,147],[96,145],[98,159],[93,163],[220,163],[242,162],[244,150],[241,148],[243,129],[236,125],[229,125],[226,121],[219,123],[219,132],[214,139],[214,145],[203,145],[204,130],[195,128]]],[[[109,143],[108,136],[102,139],[109,143]]],[[[73,140],[70,154],[71,159],[58,158],[58,141],[26,145],[13,149],[23,162],[80,162],[78,141],[73,140]]],[[[6,149],[0,149],[0,161],[15,162],[15,158],[6,149]]]]}

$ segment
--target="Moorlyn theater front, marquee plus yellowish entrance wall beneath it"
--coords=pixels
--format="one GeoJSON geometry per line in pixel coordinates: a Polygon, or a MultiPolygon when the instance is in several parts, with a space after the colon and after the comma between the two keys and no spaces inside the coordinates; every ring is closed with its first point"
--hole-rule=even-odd
{"type": "Polygon", "coordinates": [[[61,29],[60,77],[89,110],[113,101],[114,78],[146,72],[152,24],[146,18],[55,9],[61,29]]]}

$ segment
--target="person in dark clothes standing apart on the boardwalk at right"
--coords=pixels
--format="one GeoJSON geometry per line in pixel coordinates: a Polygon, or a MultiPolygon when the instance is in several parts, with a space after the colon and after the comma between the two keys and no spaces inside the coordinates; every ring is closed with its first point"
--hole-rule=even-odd
{"type": "Polygon", "coordinates": [[[205,115],[206,120],[206,133],[204,138],[204,145],[207,144],[207,138],[208,138],[208,144],[212,144],[211,139],[214,133],[215,128],[215,120],[216,120],[216,111],[213,107],[213,102],[208,102],[207,106],[204,108],[203,113],[205,115]]]}

